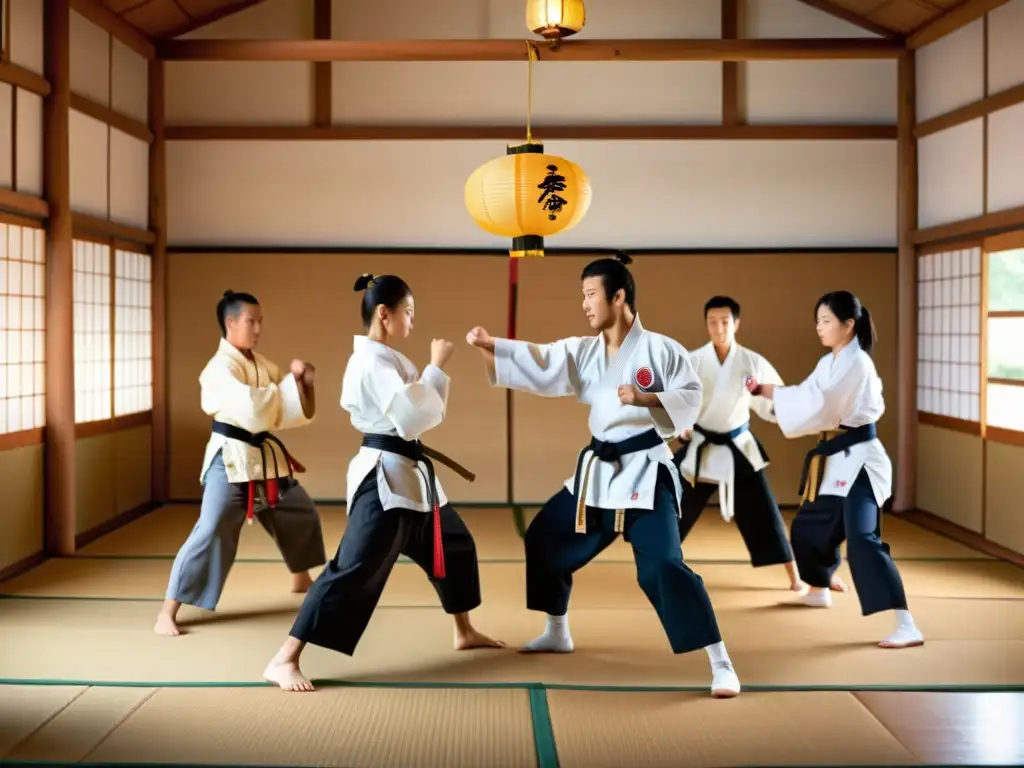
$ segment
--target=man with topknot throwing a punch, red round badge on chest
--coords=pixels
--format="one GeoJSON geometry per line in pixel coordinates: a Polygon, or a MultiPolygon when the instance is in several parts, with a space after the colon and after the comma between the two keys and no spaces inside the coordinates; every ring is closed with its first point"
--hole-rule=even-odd
{"type": "Polygon", "coordinates": [[[522,650],[572,651],[566,616],[572,574],[622,534],[633,545],[640,587],[673,651],[706,648],[712,693],[734,696],[739,680],[711,598],[683,563],[681,486],[666,443],[696,419],[700,380],[679,343],[640,324],[629,261],[623,254],[583,270],[583,308],[598,336],[532,344],[494,339],[482,328],[467,335],[483,351],[492,384],[549,397],[575,395],[590,406],[593,438],[574,476],[526,531],[526,607],[544,611],[548,622],[522,650]]]}

